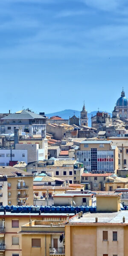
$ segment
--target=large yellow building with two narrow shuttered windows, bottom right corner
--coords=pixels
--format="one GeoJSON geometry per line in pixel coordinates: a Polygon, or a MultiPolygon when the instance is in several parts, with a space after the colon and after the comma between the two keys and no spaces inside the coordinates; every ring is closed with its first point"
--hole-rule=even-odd
{"type": "Polygon", "coordinates": [[[65,256],[128,256],[128,211],[86,213],[65,224],[65,256]]]}

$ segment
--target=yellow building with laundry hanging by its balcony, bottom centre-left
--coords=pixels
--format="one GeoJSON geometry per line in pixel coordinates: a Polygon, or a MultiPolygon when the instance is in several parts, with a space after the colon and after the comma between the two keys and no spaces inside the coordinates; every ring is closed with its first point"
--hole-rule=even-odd
{"type": "Polygon", "coordinates": [[[64,224],[61,221],[30,221],[21,227],[20,233],[22,256],[65,255],[64,224]]]}

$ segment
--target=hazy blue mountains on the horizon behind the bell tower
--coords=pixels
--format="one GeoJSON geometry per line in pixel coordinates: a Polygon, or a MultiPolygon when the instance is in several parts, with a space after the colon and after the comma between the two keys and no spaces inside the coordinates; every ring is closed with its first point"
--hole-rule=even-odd
{"type": "MultiPolygon", "coordinates": [[[[100,111],[100,112],[102,112],[102,111],[100,111]]],[[[69,117],[72,117],[74,115],[74,113],[75,113],[75,116],[77,116],[77,117],[81,116],[80,111],[72,110],[72,109],[65,109],[65,110],[62,110],[62,111],[55,112],[55,113],[49,113],[49,114],[46,114],[46,116],[48,116],[48,117],[60,116],[61,118],[69,119],[69,117]]],[[[91,126],[91,116],[92,115],[95,116],[96,113],[97,113],[97,111],[92,111],[90,113],[87,113],[87,116],[88,116],[88,126],[91,126]]],[[[109,115],[112,116],[111,113],[109,113],[109,115]]]]}

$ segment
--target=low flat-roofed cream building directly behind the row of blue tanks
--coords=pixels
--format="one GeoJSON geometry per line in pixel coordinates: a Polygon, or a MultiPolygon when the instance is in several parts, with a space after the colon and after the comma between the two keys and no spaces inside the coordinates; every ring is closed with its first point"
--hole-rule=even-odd
{"type": "Polygon", "coordinates": [[[55,206],[91,206],[93,202],[93,194],[66,193],[53,195],[55,206]]]}

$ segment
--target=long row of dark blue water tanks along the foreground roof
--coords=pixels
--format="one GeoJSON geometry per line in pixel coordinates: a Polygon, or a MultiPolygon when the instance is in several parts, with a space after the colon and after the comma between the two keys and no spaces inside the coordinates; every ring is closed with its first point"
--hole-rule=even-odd
{"type": "Polygon", "coordinates": [[[82,212],[96,212],[96,206],[14,206],[6,205],[0,206],[0,212],[6,210],[7,212],[46,212],[46,213],[78,213],[82,212]]]}

